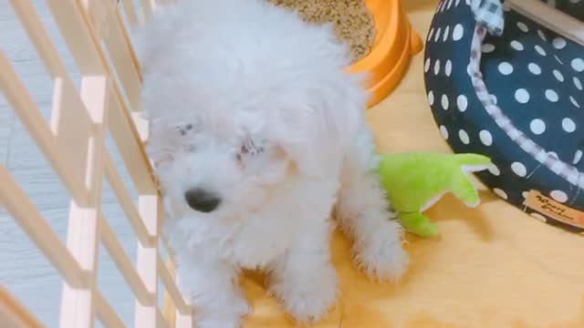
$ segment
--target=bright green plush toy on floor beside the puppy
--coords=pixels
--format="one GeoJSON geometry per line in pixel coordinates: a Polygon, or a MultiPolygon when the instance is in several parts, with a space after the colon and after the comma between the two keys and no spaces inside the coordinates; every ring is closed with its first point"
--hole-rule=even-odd
{"type": "Polygon", "coordinates": [[[401,225],[423,237],[438,235],[438,227],[422,212],[446,192],[469,207],[480,203],[469,173],[488,169],[491,159],[475,154],[404,153],[381,155],[383,188],[398,212],[401,225]]]}

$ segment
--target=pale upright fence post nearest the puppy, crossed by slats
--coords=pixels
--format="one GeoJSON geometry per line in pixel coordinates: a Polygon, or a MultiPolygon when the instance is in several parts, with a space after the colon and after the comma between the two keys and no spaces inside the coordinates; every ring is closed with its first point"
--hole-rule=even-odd
{"type": "MultiPolygon", "coordinates": [[[[158,236],[158,224],[161,204],[158,194],[140,195],[139,210],[142,220],[148,231],[158,236]]],[[[138,273],[142,281],[146,284],[148,291],[154,294],[158,300],[158,243],[151,247],[144,247],[138,243],[138,261],[136,263],[138,273]]],[[[136,302],[136,312],[134,314],[134,326],[136,328],[156,327],[158,322],[157,313],[159,312],[156,304],[147,306],[136,302]]]]}

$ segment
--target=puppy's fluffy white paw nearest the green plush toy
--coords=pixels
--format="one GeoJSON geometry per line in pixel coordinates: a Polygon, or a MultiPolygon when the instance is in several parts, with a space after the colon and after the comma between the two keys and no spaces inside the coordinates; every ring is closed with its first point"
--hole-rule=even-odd
{"type": "Polygon", "coordinates": [[[406,272],[410,258],[403,249],[401,226],[386,221],[356,250],[355,261],[373,279],[396,281],[406,272]]]}

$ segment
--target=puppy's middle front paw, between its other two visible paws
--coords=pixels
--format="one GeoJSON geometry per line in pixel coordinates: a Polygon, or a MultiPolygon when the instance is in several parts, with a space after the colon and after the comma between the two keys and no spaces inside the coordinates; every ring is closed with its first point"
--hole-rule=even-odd
{"type": "Polygon", "coordinates": [[[284,302],[287,312],[299,323],[318,322],[337,300],[335,269],[330,265],[320,270],[323,272],[307,268],[306,277],[295,277],[272,288],[284,302]]]}

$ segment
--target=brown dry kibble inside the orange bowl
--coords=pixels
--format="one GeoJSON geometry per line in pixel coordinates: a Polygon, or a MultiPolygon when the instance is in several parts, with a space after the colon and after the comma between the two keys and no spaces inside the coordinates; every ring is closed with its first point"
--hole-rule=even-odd
{"type": "Polygon", "coordinates": [[[267,0],[297,11],[305,22],[332,23],[341,42],[349,44],[353,62],[367,56],[375,39],[373,15],[363,0],[267,0]]]}

